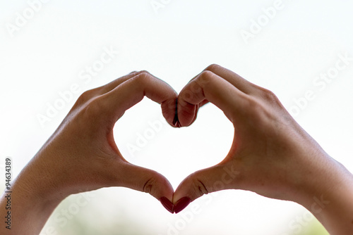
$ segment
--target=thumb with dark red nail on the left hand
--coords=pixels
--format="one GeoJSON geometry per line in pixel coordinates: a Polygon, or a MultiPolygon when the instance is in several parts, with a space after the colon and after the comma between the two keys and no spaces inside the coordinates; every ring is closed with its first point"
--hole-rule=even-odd
{"type": "Polygon", "coordinates": [[[162,174],[145,167],[139,167],[131,163],[121,163],[118,173],[120,186],[137,191],[150,193],[150,195],[157,198],[160,203],[169,212],[173,211],[173,193],[172,184],[162,174]]]}

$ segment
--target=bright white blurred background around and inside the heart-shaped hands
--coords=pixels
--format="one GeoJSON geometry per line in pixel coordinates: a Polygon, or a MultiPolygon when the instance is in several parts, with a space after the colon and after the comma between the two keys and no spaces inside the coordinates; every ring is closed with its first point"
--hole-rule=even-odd
{"type": "MultiPolygon", "coordinates": [[[[30,6],[0,1],[1,172],[10,156],[16,176],[54,132],[79,94],[42,125],[38,115],[47,115],[72,84],[82,93],[133,70],[149,70],[179,92],[211,63],[274,91],[287,109],[313,91],[315,99],[295,118],[353,172],[353,61],[325,88],[313,84],[335,67],[340,54],[353,56],[352,1],[283,0],[282,10],[248,43],[241,30],[250,32],[252,20],[261,19],[263,8],[275,1],[158,0],[164,4],[157,12],[151,2],[52,0],[11,35],[9,24],[16,25],[18,14],[30,6]],[[83,79],[82,72],[99,63],[104,48],[117,51],[112,61],[90,81],[83,79]]],[[[189,128],[173,129],[160,116],[160,107],[144,99],[117,122],[116,143],[126,159],[161,172],[174,189],[229,151],[232,124],[213,105],[202,108],[189,128]],[[138,136],[150,133],[149,122],[162,128],[131,154],[128,148],[137,146],[138,136]]],[[[129,189],[101,189],[88,198],[67,198],[43,234],[295,234],[306,229],[306,224],[293,227],[296,217],[306,215],[300,205],[246,191],[211,194],[178,215],[129,189]]]]}

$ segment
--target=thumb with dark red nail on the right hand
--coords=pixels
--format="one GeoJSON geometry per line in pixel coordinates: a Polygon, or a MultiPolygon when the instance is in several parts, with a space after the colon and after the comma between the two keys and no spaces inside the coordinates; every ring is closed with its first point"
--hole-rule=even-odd
{"type": "Polygon", "coordinates": [[[230,164],[218,164],[190,174],[174,193],[174,212],[184,210],[189,203],[203,194],[234,189],[238,178],[239,172],[230,164]]]}

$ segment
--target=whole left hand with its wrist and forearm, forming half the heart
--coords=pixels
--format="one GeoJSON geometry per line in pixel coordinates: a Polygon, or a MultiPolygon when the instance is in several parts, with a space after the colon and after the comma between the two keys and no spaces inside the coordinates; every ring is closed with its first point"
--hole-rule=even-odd
{"type": "MultiPolygon", "coordinates": [[[[114,142],[116,120],[144,96],[161,103],[164,118],[172,124],[177,93],[148,72],[132,72],[85,91],[13,182],[12,229],[1,229],[39,234],[66,196],[108,186],[150,193],[171,210],[174,190],[169,181],[155,171],[128,163],[114,142]]],[[[4,203],[2,198],[1,215],[6,214],[4,203]]]]}

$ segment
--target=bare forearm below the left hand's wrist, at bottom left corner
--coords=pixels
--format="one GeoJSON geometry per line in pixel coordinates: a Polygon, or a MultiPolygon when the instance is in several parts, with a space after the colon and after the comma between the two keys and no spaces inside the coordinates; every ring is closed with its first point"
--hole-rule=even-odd
{"type": "Polygon", "coordinates": [[[40,234],[53,210],[64,199],[45,193],[49,179],[38,174],[38,170],[31,161],[11,182],[11,193],[1,196],[0,215],[8,223],[1,220],[0,234],[40,234]]]}

